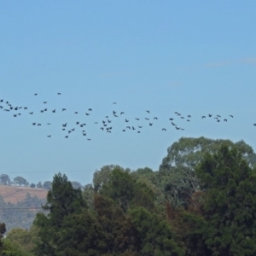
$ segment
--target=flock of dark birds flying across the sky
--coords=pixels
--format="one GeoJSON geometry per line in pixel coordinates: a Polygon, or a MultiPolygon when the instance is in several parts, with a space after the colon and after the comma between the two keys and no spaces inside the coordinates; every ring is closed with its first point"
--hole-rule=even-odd
{"type": "MultiPolygon", "coordinates": [[[[38,96],[38,93],[35,93],[34,96],[38,96]]],[[[61,96],[61,92],[57,93],[57,96],[61,96]]],[[[56,113],[56,109],[51,109],[49,110],[46,106],[47,106],[47,102],[42,102],[44,105],[44,108],[39,110],[39,113],[46,113],[46,112],[51,112],[51,113],[56,113]]],[[[117,104],[117,102],[113,102],[113,105],[117,104]]],[[[27,107],[16,107],[14,106],[12,103],[10,103],[9,101],[0,99],[0,110],[3,110],[6,113],[12,113],[12,116],[14,118],[18,118],[21,115],[21,110],[22,112],[25,111],[27,114],[30,115],[34,115],[35,111],[32,111],[30,109],[28,109],[27,107]]],[[[66,108],[61,108],[61,112],[66,112],[67,109],[66,108]]],[[[92,108],[88,108],[87,111],[84,112],[84,116],[89,116],[91,113],[93,112],[92,108]]],[[[73,114],[78,114],[79,112],[74,112],[73,114]]],[[[22,113],[23,114],[23,113],[22,113]]],[[[172,127],[174,127],[174,129],[176,130],[180,130],[180,131],[184,131],[183,127],[178,126],[177,123],[177,119],[184,119],[187,122],[190,122],[191,120],[191,115],[188,114],[186,116],[183,116],[181,113],[175,112],[176,115],[176,119],[174,119],[173,117],[169,118],[169,122],[172,125],[172,127]]],[[[232,114],[229,115],[230,118],[234,118],[234,116],[232,114]]],[[[134,122],[136,122],[136,125],[134,125],[133,122],[131,122],[131,119],[127,119],[125,118],[125,112],[118,112],[117,110],[113,110],[112,113],[109,113],[108,115],[106,115],[101,122],[94,122],[95,125],[100,124],[99,129],[101,131],[105,131],[107,133],[111,133],[113,126],[112,126],[112,122],[113,119],[115,118],[123,118],[124,121],[124,126],[121,129],[121,131],[125,132],[125,131],[136,131],[137,133],[141,133],[143,131],[143,127],[145,124],[142,124],[142,120],[147,122],[148,126],[152,126],[154,125],[154,122],[156,122],[158,120],[158,117],[156,116],[150,116],[150,111],[149,110],[145,110],[145,116],[142,118],[138,118],[135,117],[133,119],[134,122]],[[132,123],[132,125],[130,125],[132,123]]],[[[209,113],[207,115],[203,115],[201,116],[201,119],[206,119],[206,118],[213,118],[216,119],[217,122],[220,122],[221,120],[223,120],[224,122],[227,122],[228,119],[227,118],[221,118],[221,116],[219,114],[217,114],[216,116],[213,116],[212,113],[209,113]]],[[[42,123],[37,123],[37,122],[32,122],[33,126],[41,126],[42,123]]],[[[47,123],[46,125],[51,125],[50,123],[47,123]]],[[[87,131],[85,131],[85,125],[86,123],[81,122],[81,121],[76,121],[75,124],[73,124],[75,126],[72,126],[72,128],[70,127],[70,124],[68,122],[65,122],[64,124],[61,124],[61,131],[63,131],[64,138],[68,138],[69,135],[75,131],[75,130],[81,130],[81,135],[83,137],[87,136],[87,131]]],[[[256,124],[253,124],[256,126],[256,124]]],[[[162,127],[161,131],[166,131],[166,127],[162,127]]],[[[46,135],[46,137],[52,137],[51,134],[46,135]]],[[[87,137],[86,137],[87,138],[87,137]]],[[[90,138],[87,138],[88,141],[90,141],[90,138]]]]}

